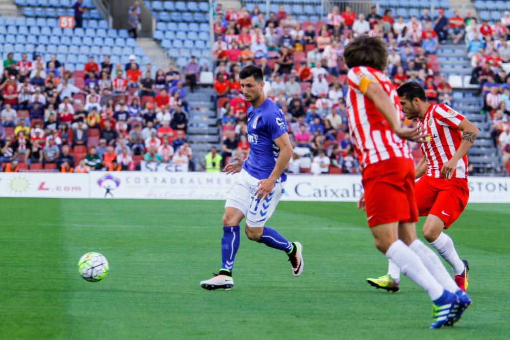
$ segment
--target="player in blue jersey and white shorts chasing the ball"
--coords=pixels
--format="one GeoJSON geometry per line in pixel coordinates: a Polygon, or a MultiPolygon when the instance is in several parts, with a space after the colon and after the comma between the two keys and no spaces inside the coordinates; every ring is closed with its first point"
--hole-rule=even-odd
{"type": "Polygon", "coordinates": [[[266,98],[260,68],[246,66],[239,77],[244,98],[251,103],[247,115],[250,151],[244,162],[236,159],[224,169],[227,174],[239,174],[228,190],[225,202],[221,269],[211,279],[200,282],[207,290],[234,286],[232,268],[239,249],[239,223],[245,216],[244,232],[248,239],[285,251],[294,276],[303,272],[301,244],[289,242],[276,230],[265,226],[285,191],[287,175],[284,170],[293,152],[285,116],[273,101],[266,98]]]}

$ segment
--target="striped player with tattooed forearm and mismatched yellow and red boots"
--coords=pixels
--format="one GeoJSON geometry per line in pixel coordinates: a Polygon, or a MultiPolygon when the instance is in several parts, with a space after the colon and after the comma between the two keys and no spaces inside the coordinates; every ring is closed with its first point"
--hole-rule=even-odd
{"type": "MultiPolygon", "coordinates": [[[[445,104],[430,104],[424,89],[407,83],[397,90],[408,119],[418,118],[427,128],[428,141],[423,143],[423,159],[416,166],[416,201],[420,216],[427,216],[423,236],[450,264],[455,283],[466,291],[469,263],[461,260],[451,238],[442,232],[461,215],[469,198],[468,159],[466,152],[479,132],[466,117],[445,104]]],[[[398,290],[400,269],[390,261],[388,274],[368,279],[376,287],[398,290]]]]}

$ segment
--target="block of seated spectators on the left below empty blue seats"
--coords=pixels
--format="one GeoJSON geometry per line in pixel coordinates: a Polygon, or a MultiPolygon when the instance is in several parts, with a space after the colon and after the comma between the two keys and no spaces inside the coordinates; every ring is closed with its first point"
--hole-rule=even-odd
{"type": "Polygon", "coordinates": [[[126,65],[105,56],[71,74],[55,55],[14,60],[9,53],[0,65],[2,169],[136,170],[146,161],[194,170],[184,85],[194,88],[196,62],[185,77],[173,64],[145,69],[135,56],[126,65]]]}

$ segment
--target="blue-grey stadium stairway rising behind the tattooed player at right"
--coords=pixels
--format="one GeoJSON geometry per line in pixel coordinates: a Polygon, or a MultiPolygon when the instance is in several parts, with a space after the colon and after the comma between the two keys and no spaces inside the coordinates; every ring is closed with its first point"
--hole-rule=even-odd
{"type": "Polygon", "coordinates": [[[464,45],[447,43],[438,49],[441,73],[453,89],[452,108],[465,115],[479,129],[480,134],[468,152],[473,165],[470,175],[487,175],[501,172],[501,156],[491,138],[491,123],[487,114],[482,114],[483,99],[480,87],[469,84],[471,63],[464,52],[464,45]]]}

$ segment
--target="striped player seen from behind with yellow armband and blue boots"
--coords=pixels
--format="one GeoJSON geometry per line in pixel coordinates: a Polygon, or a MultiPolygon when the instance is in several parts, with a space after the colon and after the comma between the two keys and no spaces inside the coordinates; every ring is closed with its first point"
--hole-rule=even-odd
{"type": "Polygon", "coordinates": [[[344,60],[350,69],[347,117],[365,190],[360,207],[375,246],[428,293],[434,304],[430,328],[452,325],[471,300],[416,238],[415,169],[403,139],[425,142],[424,128],[401,127],[400,99],[384,74],[388,54],[381,39],[356,37],[345,47],[344,60]],[[467,297],[462,305],[457,291],[467,297]]]}

